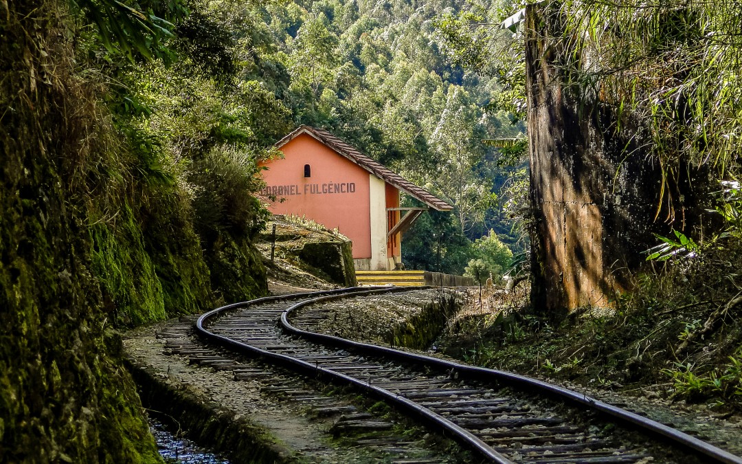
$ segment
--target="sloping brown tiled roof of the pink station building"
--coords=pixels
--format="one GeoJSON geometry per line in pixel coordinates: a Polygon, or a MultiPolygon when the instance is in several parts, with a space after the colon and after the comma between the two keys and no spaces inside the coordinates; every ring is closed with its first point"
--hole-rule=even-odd
{"type": "Polygon", "coordinates": [[[289,141],[295,139],[301,134],[308,134],[310,137],[314,137],[316,140],[324,143],[324,145],[332,148],[332,150],[334,150],[342,157],[345,157],[356,165],[361,166],[361,168],[369,171],[371,174],[374,174],[376,177],[384,180],[384,182],[390,184],[391,186],[395,186],[397,189],[401,190],[407,195],[410,195],[410,197],[420,200],[422,203],[430,206],[430,208],[436,209],[437,211],[451,211],[453,209],[453,205],[451,205],[447,201],[441,200],[439,197],[436,197],[430,192],[427,192],[427,190],[422,189],[421,187],[416,186],[414,183],[411,183],[409,180],[404,179],[399,174],[396,174],[395,172],[388,169],[386,166],[378,163],[378,161],[367,157],[365,154],[362,154],[360,151],[353,148],[348,143],[344,142],[344,140],[335,137],[324,129],[313,128],[309,125],[301,125],[291,134],[288,134],[286,135],[286,137],[283,137],[283,139],[279,140],[275,144],[275,147],[281,148],[282,146],[286,145],[286,143],[289,143],[289,141]]]}

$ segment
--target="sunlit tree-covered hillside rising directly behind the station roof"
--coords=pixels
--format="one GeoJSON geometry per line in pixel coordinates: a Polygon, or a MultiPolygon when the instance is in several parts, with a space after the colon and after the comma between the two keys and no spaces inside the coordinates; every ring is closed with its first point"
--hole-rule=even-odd
{"type": "MultiPolygon", "coordinates": [[[[481,258],[472,243],[490,229],[513,251],[523,247],[507,219],[516,205],[502,187],[525,168],[482,140],[519,137],[524,126],[498,104],[496,79],[451,64],[438,27],[445,13],[468,7],[346,0],[203,5],[203,15],[234,39],[232,56],[243,60],[228,100],[237,103],[230,106],[237,120],[260,114],[258,145],[299,124],[327,128],[456,206],[453,215],[427,216],[408,232],[409,269],[462,273],[481,258]]],[[[487,270],[502,272],[495,264],[487,270]]]]}

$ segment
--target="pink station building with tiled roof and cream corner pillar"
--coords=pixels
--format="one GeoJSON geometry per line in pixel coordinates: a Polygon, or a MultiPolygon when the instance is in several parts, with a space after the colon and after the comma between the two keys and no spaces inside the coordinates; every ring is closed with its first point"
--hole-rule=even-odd
{"type": "Polygon", "coordinates": [[[337,228],[352,240],[356,270],[398,269],[401,235],[421,212],[453,209],[328,131],[302,125],[275,146],[283,158],[261,163],[263,195],[275,197],[268,209],[337,228]],[[400,192],[425,206],[401,208],[400,192]]]}

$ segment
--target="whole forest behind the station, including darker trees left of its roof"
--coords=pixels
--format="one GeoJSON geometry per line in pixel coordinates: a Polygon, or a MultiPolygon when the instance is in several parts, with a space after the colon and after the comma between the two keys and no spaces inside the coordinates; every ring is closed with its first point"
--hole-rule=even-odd
{"type": "Polygon", "coordinates": [[[524,246],[506,220],[502,187],[525,168],[482,140],[524,128],[496,105],[496,79],[447,57],[437,24],[464,5],[194,4],[176,31],[185,42],[177,60],[116,70],[126,82],[125,124],[162,148],[157,163],[176,177],[194,146],[253,163],[300,124],[327,128],[456,206],[407,236],[410,269],[462,273],[479,250],[496,246],[502,259],[487,261],[488,271],[502,273],[509,258],[496,234],[511,250],[524,246]],[[128,119],[132,110],[139,116],[128,119]],[[473,246],[479,238],[488,241],[473,246]]]}

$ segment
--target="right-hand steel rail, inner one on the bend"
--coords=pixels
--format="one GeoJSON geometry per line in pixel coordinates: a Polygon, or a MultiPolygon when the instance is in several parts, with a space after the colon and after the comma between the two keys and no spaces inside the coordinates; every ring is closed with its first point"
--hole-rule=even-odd
{"type": "MultiPolygon", "coordinates": [[[[411,289],[404,288],[404,290],[410,291],[411,289]]],[[[371,293],[378,293],[378,290],[371,290],[369,294],[371,293]]],[[[357,294],[351,293],[350,295],[355,296],[357,294]]],[[[320,296],[317,298],[312,298],[310,300],[301,301],[297,304],[292,305],[286,310],[283,310],[280,318],[283,330],[285,330],[286,333],[290,333],[295,336],[301,336],[312,342],[329,344],[335,347],[341,347],[345,350],[352,350],[356,353],[372,353],[376,356],[391,357],[416,365],[424,365],[441,370],[449,370],[452,375],[458,374],[459,378],[466,377],[468,379],[476,379],[480,381],[499,382],[503,384],[515,385],[522,388],[524,391],[532,393],[545,393],[549,396],[557,397],[559,399],[565,399],[573,404],[582,405],[584,407],[593,409],[594,411],[598,411],[601,414],[611,416],[614,419],[618,419],[620,420],[620,422],[634,425],[635,428],[638,428],[642,431],[664,437],[674,444],[682,445],[683,448],[695,451],[697,454],[701,454],[704,457],[711,458],[715,463],[742,464],[742,458],[735,456],[735,454],[729,453],[729,451],[725,451],[721,448],[711,445],[710,443],[699,440],[695,437],[690,436],[689,434],[685,434],[667,425],[660,424],[660,422],[655,422],[654,420],[648,419],[644,416],[640,416],[639,414],[634,414],[631,411],[626,411],[622,408],[618,408],[617,406],[609,405],[606,402],[591,398],[584,393],[571,391],[568,388],[559,387],[558,385],[543,382],[542,380],[532,379],[531,377],[521,376],[519,374],[506,372],[504,370],[462,365],[458,362],[447,361],[445,359],[433,358],[416,353],[407,353],[405,351],[394,350],[393,348],[388,347],[381,347],[375,344],[353,342],[352,340],[341,339],[340,337],[326,335],[323,333],[309,332],[307,330],[298,329],[289,323],[289,315],[295,310],[298,310],[301,307],[309,306],[310,304],[332,301],[338,298],[340,298],[338,295],[320,296]]]]}

